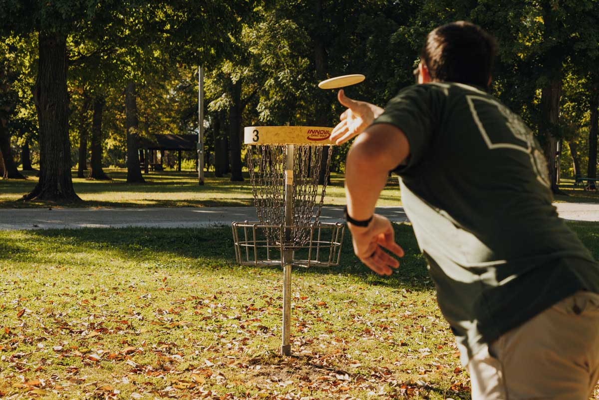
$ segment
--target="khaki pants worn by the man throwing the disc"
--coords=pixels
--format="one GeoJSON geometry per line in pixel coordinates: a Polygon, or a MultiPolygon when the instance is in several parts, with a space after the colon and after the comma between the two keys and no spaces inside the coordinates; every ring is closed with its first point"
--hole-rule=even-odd
{"type": "Polygon", "coordinates": [[[473,400],[588,400],[599,379],[599,295],[577,292],[468,363],[473,400]]]}

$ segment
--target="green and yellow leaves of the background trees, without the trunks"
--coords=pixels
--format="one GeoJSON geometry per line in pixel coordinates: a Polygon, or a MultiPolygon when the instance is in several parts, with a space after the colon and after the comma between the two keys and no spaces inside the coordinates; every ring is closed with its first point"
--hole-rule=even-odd
{"type": "MultiPolygon", "coordinates": [[[[84,93],[102,93],[107,156],[119,164],[125,154],[128,81],[138,88],[138,134],[195,133],[195,74],[197,65],[204,66],[206,145],[212,151],[215,113],[225,122],[220,132],[227,132],[235,84],[241,86],[242,126],[317,121],[333,126],[343,108],[333,91],[317,88],[319,80],[363,73],[367,81],[347,88],[347,94],[384,106],[413,83],[426,33],[458,19],[478,23],[498,38],[492,92],[539,134],[577,140],[588,120],[589,74],[599,57],[593,0],[210,0],[201,7],[188,0],[0,0],[0,31],[7,38],[0,53],[13,54],[10,62],[16,64],[10,69],[18,77],[13,77],[17,101],[11,132],[20,138],[17,143],[35,138],[32,32],[43,29],[68,33],[72,143],[78,137],[75,121],[90,121],[89,111],[81,110],[84,93]],[[555,78],[563,87],[560,123],[548,126],[541,89],[555,78]]],[[[334,169],[343,170],[345,153],[344,147],[335,149],[334,169]]]]}

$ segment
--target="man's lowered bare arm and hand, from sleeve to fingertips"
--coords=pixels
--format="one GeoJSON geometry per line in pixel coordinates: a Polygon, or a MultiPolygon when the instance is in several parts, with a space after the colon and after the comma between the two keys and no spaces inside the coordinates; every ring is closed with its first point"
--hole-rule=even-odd
{"type": "MultiPolygon", "coordinates": [[[[387,182],[389,171],[410,154],[406,135],[394,125],[379,123],[368,127],[347,153],[345,187],[347,213],[352,219],[367,220],[387,182]]],[[[404,251],[395,243],[391,222],[374,214],[367,227],[347,224],[352,232],[353,248],[359,259],[378,274],[390,275],[399,262],[381,247],[398,257],[404,251]]]]}

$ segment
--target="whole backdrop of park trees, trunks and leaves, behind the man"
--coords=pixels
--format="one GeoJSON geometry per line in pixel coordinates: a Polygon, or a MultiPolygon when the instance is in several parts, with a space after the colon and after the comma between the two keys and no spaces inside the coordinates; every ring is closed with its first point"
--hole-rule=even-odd
{"type": "Polygon", "coordinates": [[[241,180],[243,126],[334,125],[342,108],[316,84],[335,75],[366,75],[348,95],[384,106],[413,83],[425,35],[453,20],[497,37],[491,91],[544,144],[553,189],[558,143],[563,173],[596,176],[595,0],[0,0],[4,164],[25,166],[31,146],[40,184],[26,198],[77,201],[71,167],[83,176],[90,144],[90,177],[126,165],[143,180],[141,138],[198,132],[201,65],[208,166],[241,180]]]}

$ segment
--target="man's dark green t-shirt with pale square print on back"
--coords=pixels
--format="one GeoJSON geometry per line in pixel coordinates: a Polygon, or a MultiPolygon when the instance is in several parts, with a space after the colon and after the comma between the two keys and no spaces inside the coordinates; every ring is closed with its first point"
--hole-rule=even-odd
{"type": "Polygon", "coordinates": [[[551,204],[533,132],[496,98],[410,86],[374,123],[410,143],[401,199],[462,362],[577,290],[599,292],[599,265],[551,204]]]}

